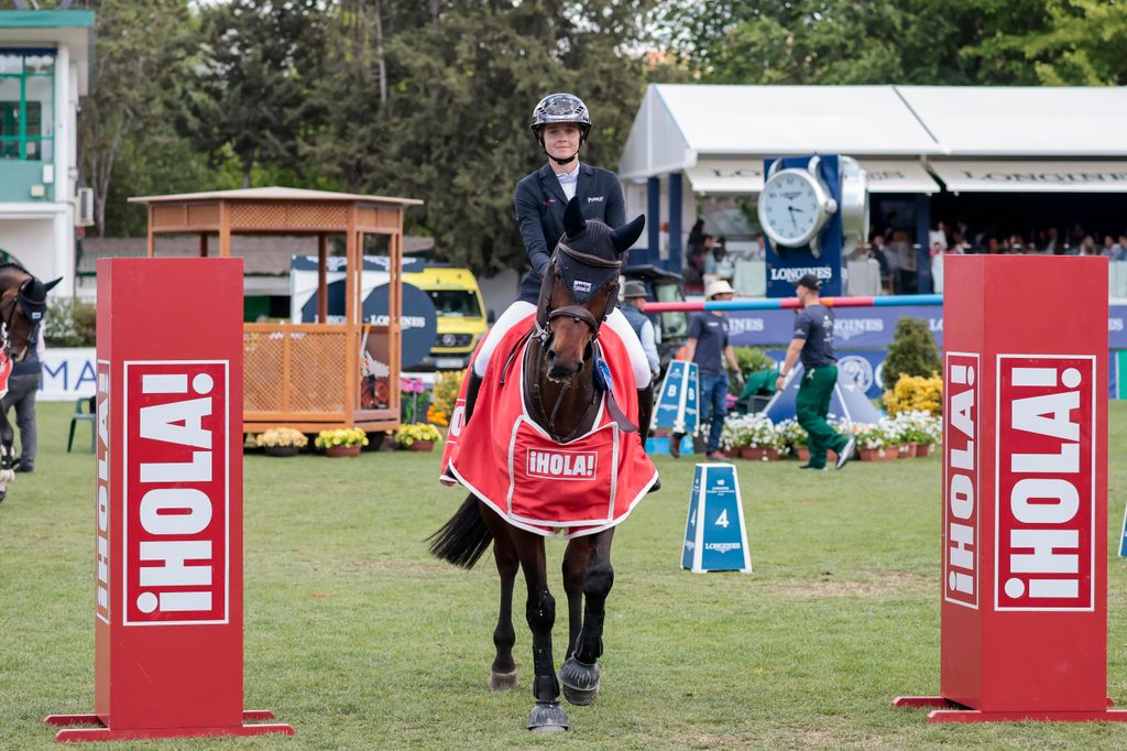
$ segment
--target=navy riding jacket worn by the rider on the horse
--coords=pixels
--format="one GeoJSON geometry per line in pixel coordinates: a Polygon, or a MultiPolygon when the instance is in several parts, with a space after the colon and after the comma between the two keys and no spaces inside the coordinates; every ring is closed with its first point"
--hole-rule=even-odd
{"type": "MultiPolygon", "coordinates": [[[[622,186],[613,173],[579,162],[575,195],[584,219],[598,219],[615,229],[627,223],[622,186]]],[[[518,299],[535,304],[548,260],[564,235],[567,197],[556,173],[545,164],[517,183],[514,204],[524,250],[532,264],[532,271],[521,282],[518,299]]]]}

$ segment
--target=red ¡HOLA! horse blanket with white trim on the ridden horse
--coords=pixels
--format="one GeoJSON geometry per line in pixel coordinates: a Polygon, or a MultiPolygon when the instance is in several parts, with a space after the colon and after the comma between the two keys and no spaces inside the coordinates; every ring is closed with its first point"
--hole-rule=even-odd
{"type": "MultiPolygon", "coordinates": [[[[509,329],[486,369],[473,419],[465,423],[462,382],[442,458],[471,493],[508,523],[543,536],[562,529],[567,537],[594,534],[625,519],[657,480],[638,433],[623,433],[611,418],[606,396],[594,427],[574,441],[557,443],[532,419],[524,404],[523,362],[533,317],[509,329]],[[515,353],[500,382],[508,355],[515,353]]],[[[610,327],[598,334],[611,370],[615,400],[637,424],[638,400],[625,346],[610,327]]],[[[449,478],[446,478],[449,480],[449,478]]]]}

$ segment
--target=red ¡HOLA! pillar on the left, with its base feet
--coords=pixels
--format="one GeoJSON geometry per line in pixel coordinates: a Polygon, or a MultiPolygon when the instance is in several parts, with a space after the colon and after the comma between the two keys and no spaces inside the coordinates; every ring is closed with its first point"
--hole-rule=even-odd
{"type": "Polygon", "coordinates": [[[242,708],[242,259],[98,262],[95,712],[59,741],[293,734],[242,708]]]}

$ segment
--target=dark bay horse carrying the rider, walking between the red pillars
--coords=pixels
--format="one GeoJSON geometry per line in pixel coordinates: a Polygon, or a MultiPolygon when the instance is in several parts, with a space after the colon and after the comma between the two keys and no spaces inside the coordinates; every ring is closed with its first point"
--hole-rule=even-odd
{"type": "MultiPolygon", "coordinates": [[[[584,221],[576,200],[567,205],[566,233],[544,273],[535,324],[527,335],[520,368],[527,416],[558,444],[591,431],[603,414],[604,389],[595,372],[601,366],[596,365],[595,356],[600,328],[618,302],[623,254],[641,235],[644,224],[645,217],[638,217],[625,227],[612,230],[596,220],[584,221]],[[582,303],[576,301],[573,289],[584,288],[568,282],[576,264],[594,272],[588,279],[603,280],[582,303]]],[[[512,359],[517,351],[514,348],[509,353],[498,348],[489,368],[508,368],[506,356],[512,359]]],[[[619,394],[620,398],[638,399],[638,426],[629,424],[612,397],[613,394],[606,398],[606,405],[610,414],[616,415],[615,422],[625,431],[625,438],[637,441],[638,435],[629,433],[637,430],[644,441],[653,409],[653,383],[629,395],[619,394]],[[619,422],[619,417],[627,424],[619,422]]],[[[471,417],[472,400],[467,405],[465,419],[471,417]]],[[[488,418],[488,414],[478,416],[478,419],[488,418]]],[[[566,483],[560,484],[561,494],[567,493],[566,486],[566,483]]],[[[654,484],[649,489],[657,487],[654,484]]],[[[494,690],[516,686],[513,587],[517,569],[524,571],[527,585],[525,618],[532,631],[532,693],[535,698],[529,715],[530,730],[567,730],[567,714],[559,704],[560,683],[564,696],[571,704],[591,704],[598,693],[603,618],[606,597],[614,582],[613,536],[614,527],[610,525],[602,531],[573,537],[564,554],[568,644],[558,677],[552,659],[556,601],[548,590],[544,537],[508,523],[494,507],[471,494],[454,516],[429,538],[431,551],[436,557],[465,568],[477,563],[490,542],[494,545],[500,574],[500,613],[494,630],[496,657],[489,678],[489,687],[494,690]]]]}

